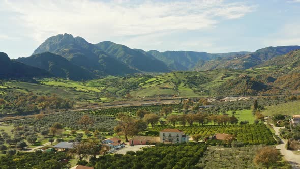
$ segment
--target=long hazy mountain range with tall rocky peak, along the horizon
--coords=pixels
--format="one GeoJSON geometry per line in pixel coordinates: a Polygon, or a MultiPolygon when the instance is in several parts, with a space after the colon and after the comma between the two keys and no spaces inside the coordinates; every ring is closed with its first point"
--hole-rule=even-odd
{"type": "MultiPolygon", "coordinates": [[[[278,56],[297,49],[300,49],[300,46],[266,47],[255,52],[230,53],[144,51],[110,41],[92,44],[81,37],[73,37],[71,34],[65,33],[46,39],[33,52],[32,56],[10,60],[10,62],[22,65],[20,67],[23,69],[26,65],[31,70],[34,67],[39,68],[41,75],[47,74],[71,80],[88,80],[106,75],[123,76],[134,73],[249,69],[273,66],[278,62],[284,64],[284,61],[287,60],[287,58],[280,60],[278,56]]],[[[2,55],[6,54],[2,53],[2,55]]],[[[294,65],[297,64],[296,60],[294,59],[294,65]]],[[[32,74],[31,76],[37,75],[32,74]]],[[[28,74],[24,76],[28,76],[28,74]]]]}

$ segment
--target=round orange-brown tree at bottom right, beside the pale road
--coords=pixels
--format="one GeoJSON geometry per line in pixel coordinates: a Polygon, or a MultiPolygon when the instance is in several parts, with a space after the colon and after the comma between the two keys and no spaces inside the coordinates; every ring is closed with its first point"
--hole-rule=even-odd
{"type": "Polygon", "coordinates": [[[276,165],[277,162],[278,151],[274,147],[269,146],[260,149],[254,158],[254,163],[257,166],[263,165],[266,168],[276,165]]]}

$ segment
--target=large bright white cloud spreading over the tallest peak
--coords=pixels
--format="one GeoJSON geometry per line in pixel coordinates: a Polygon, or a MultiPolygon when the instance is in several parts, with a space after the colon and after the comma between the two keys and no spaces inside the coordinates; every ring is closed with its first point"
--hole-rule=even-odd
{"type": "Polygon", "coordinates": [[[96,43],[111,37],[207,29],[222,20],[241,18],[255,10],[255,6],[222,0],[135,3],[16,0],[4,1],[1,10],[18,13],[12,18],[16,26],[32,30],[29,36],[36,41],[67,32],[96,43]]]}

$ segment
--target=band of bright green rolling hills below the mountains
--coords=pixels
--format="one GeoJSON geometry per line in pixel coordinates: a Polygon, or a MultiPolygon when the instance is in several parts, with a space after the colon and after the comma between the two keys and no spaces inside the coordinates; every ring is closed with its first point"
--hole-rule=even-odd
{"type": "Polygon", "coordinates": [[[87,96],[98,99],[123,98],[127,94],[134,98],[255,95],[272,91],[273,82],[276,79],[269,74],[273,71],[273,69],[180,71],[156,76],[108,76],[84,82],[40,79],[38,80],[40,85],[14,82],[6,83],[6,86],[35,93],[41,91],[46,94],[53,92],[53,90],[61,90],[67,92],[66,95],[70,97],[74,95],[76,98],[86,98],[81,96],[86,93],[87,96]]]}

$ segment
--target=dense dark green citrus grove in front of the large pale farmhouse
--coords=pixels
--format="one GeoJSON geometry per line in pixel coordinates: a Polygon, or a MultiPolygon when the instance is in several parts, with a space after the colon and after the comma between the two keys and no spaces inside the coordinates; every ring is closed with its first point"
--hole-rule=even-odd
{"type": "Polygon", "coordinates": [[[100,156],[95,168],[196,168],[206,149],[199,143],[159,144],[136,153],[100,156]]]}

